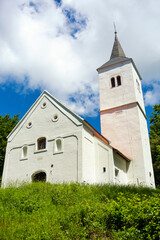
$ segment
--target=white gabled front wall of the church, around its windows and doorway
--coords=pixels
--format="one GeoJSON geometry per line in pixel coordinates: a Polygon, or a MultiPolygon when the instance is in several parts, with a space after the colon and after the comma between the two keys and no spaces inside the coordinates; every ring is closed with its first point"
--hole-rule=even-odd
{"type": "Polygon", "coordinates": [[[31,181],[32,174],[40,170],[46,172],[50,182],[81,181],[82,124],[75,122],[69,114],[59,110],[52,99],[42,97],[8,139],[2,185],[31,181]],[[44,102],[46,107],[42,108],[44,102]],[[55,114],[58,120],[53,121],[55,114]],[[29,122],[31,128],[28,128],[29,122]],[[36,143],[40,137],[46,137],[44,151],[37,151],[36,143]],[[57,138],[62,140],[62,151],[55,154],[57,138]],[[21,159],[24,145],[28,148],[28,156],[21,159]]]}

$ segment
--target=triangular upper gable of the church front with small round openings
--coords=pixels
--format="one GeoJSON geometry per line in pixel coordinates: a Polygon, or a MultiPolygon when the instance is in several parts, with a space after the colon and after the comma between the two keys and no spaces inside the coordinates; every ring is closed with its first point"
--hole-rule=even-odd
{"type": "Polygon", "coordinates": [[[82,121],[81,117],[44,91],[10,133],[8,141],[20,143],[22,139],[29,142],[43,136],[58,137],[74,131],[82,121]]]}

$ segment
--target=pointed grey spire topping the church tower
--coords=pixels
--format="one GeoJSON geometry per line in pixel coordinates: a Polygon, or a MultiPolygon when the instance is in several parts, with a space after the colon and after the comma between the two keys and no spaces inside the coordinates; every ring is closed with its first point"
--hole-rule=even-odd
{"type": "Polygon", "coordinates": [[[121,44],[118,40],[116,28],[115,28],[114,33],[115,33],[115,40],[114,40],[114,45],[113,45],[110,60],[113,59],[113,58],[116,58],[116,57],[126,57],[126,55],[125,55],[125,53],[124,53],[124,51],[121,47],[121,44]]]}

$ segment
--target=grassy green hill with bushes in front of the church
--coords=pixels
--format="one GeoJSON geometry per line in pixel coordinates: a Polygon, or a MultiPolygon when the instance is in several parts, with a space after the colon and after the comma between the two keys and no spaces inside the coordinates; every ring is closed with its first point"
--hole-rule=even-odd
{"type": "Polygon", "coordinates": [[[160,239],[160,190],[49,183],[0,189],[0,239],[160,239]]]}

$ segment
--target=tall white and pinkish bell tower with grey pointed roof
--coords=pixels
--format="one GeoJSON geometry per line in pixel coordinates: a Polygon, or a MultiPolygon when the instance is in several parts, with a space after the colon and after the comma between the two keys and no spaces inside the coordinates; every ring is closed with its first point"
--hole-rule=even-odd
{"type": "Polygon", "coordinates": [[[155,187],[142,79],[132,58],[126,57],[117,32],[110,60],[97,71],[102,135],[131,160],[129,184],[155,187]]]}

